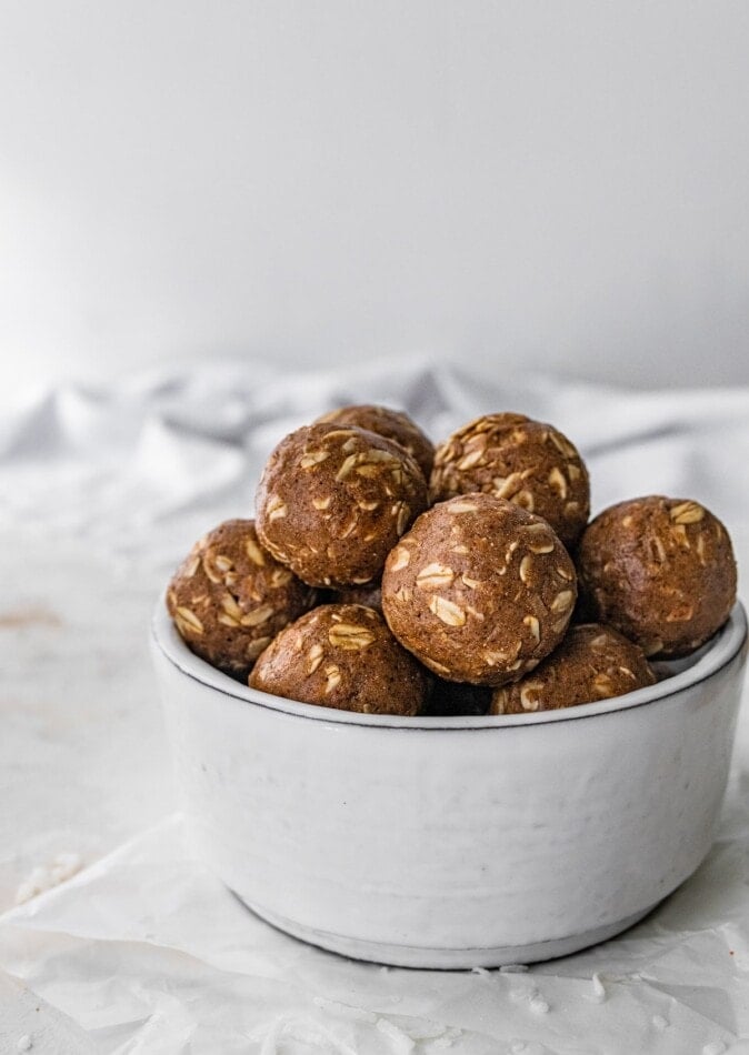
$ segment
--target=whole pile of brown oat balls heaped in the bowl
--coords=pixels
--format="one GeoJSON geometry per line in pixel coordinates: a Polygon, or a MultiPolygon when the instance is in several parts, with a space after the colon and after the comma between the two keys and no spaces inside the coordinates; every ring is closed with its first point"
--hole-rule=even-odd
{"type": "Polygon", "coordinates": [[[347,406],[286,436],[257,519],[198,542],[169,612],[254,689],[380,714],[523,713],[650,685],[736,600],[728,533],[689,499],[588,523],[557,429],[488,414],[437,449],[405,414],[347,406]]]}

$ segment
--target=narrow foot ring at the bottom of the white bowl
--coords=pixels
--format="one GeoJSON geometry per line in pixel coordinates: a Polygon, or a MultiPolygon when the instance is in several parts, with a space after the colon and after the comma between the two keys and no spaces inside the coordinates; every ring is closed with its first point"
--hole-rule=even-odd
{"type": "MultiPolygon", "coordinates": [[[[239,896],[239,895],[237,895],[239,896]]],[[[421,948],[416,945],[389,945],[380,942],[367,942],[360,938],[344,937],[331,934],[328,931],[318,931],[304,926],[293,920],[287,920],[274,912],[254,905],[239,897],[243,905],[256,915],[270,923],[279,931],[301,938],[309,945],[317,945],[328,952],[348,956],[350,959],[363,959],[368,963],[387,964],[391,967],[420,967],[439,971],[460,971],[471,967],[503,967],[508,964],[531,964],[542,959],[555,959],[558,956],[568,956],[589,945],[598,945],[616,934],[627,931],[639,923],[658,902],[648,905],[641,912],[636,912],[616,923],[583,931],[581,934],[570,934],[567,937],[553,938],[549,942],[533,942],[529,945],[499,945],[496,947],[481,946],[478,948],[421,948]]]]}

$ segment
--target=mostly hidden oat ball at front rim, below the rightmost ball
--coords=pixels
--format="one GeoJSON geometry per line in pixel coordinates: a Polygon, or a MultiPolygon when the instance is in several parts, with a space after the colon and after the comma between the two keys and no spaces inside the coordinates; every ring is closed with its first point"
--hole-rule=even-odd
{"type": "Polygon", "coordinates": [[[495,690],[491,714],[573,707],[655,683],[656,675],[639,645],[610,626],[581,623],[570,627],[559,647],[532,674],[495,690]]]}

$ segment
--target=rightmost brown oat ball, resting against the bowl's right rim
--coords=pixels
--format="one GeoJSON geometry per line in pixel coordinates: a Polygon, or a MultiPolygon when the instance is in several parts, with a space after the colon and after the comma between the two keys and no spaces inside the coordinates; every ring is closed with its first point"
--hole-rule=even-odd
{"type": "Polygon", "coordinates": [[[659,660],[699,649],[736,602],[728,532],[688,499],[655,494],[605,510],[582,535],[578,572],[587,611],[659,660]]]}

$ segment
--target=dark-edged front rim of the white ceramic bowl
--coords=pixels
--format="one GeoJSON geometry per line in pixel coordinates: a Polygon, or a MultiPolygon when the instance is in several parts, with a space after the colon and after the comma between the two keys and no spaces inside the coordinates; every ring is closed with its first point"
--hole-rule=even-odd
{"type": "Polygon", "coordinates": [[[477,715],[396,715],[361,714],[317,704],[287,700],[271,693],[242,685],[222,671],[211,666],[191,652],[178,634],[167,611],[166,594],[157,601],[151,619],[151,642],[154,649],[181,674],[220,695],[244,704],[276,711],[289,717],[324,722],[333,725],[358,725],[401,731],[476,731],[508,729],[531,725],[548,725],[558,722],[592,720],[606,714],[631,711],[646,704],[655,704],[679,695],[708,681],[727,667],[747,642],[747,613],[737,601],[722,627],[703,646],[703,654],[686,670],[633,692],[597,703],[581,703],[556,711],[531,711],[527,714],[477,714],[477,715]]]}

